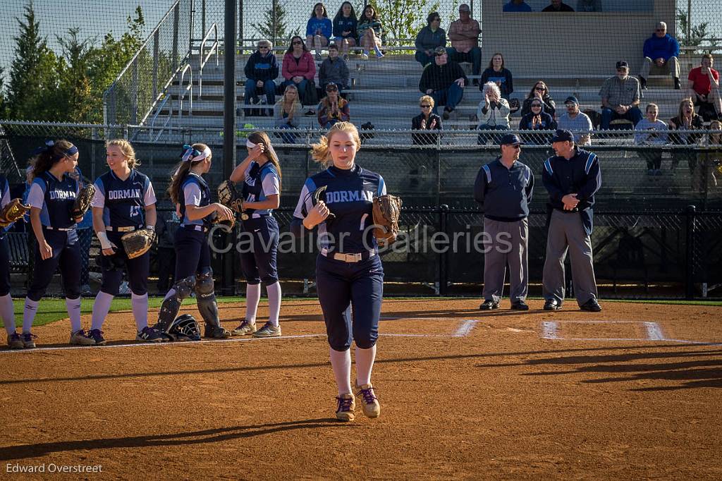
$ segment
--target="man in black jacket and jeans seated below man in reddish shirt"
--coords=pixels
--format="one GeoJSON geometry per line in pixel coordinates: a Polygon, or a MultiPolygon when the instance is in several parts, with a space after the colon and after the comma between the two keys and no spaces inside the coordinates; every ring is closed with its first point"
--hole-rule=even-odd
{"type": "Polygon", "coordinates": [[[443,118],[446,120],[464,97],[466,82],[466,74],[461,65],[448,59],[445,48],[437,47],[434,63],[429,64],[421,74],[419,90],[434,97],[434,113],[438,113],[438,106],[444,104],[443,118]]]}

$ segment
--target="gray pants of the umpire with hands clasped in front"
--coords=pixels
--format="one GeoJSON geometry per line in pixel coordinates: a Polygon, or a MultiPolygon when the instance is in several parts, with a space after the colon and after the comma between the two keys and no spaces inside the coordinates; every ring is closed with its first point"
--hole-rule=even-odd
{"type": "Polygon", "coordinates": [[[572,280],[577,303],[582,306],[596,299],[596,279],[591,253],[591,239],[584,230],[579,212],[552,211],[547,235],[547,259],[544,260],[542,294],[545,300],[564,302],[564,259],[569,251],[572,280]]]}

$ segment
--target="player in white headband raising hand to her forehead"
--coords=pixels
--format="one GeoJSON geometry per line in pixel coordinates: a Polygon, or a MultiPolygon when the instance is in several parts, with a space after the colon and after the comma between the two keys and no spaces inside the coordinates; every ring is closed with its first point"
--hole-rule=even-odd
{"type": "MultiPolygon", "coordinates": [[[[243,181],[243,210],[248,219],[241,228],[248,242],[243,242],[240,267],[245,277],[245,319],[232,334],[253,337],[278,337],[281,326],[281,285],[278,282],[276,257],[278,251],[278,222],[273,209],[281,203],[281,165],[266,132],[253,132],[245,146],[248,157],[230,175],[232,182],[243,181]],[[256,311],[261,299],[261,282],[269,296],[269,321],[256,329],[256,311]]],[[[242,234],[243,235],[243,234],[242,234]]]]}

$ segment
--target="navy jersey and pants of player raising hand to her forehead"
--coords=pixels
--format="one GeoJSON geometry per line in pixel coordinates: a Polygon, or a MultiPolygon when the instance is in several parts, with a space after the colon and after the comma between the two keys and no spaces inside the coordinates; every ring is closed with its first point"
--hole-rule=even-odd
{"type": "MultiPolygon", "coordinates": [[[[280,180],[271,162],[263,166],[251,162],[245,170],[242,195],[244,202],[264,202],[269,196],[280,195],[280,180]]],[[[250,285],[261,281],[265,285],[278,282],[276,265],[279,229],[273,217],[273,209],[248,209],[248,220],[241,222],[244,232],[251,235],[250,251],[240,254],[243,277],[250,285]]]]}

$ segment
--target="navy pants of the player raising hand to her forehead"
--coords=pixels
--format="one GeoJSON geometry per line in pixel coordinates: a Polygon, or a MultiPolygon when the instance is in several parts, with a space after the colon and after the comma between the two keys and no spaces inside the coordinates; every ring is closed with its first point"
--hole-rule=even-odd
{"type": "Polygon", "coordinates": [[[270,215],[244,220],[240,246],[240,269],[248,284],[265,285],[278,282],[276,258],[278,251],[278,222],[270,215]]]}

